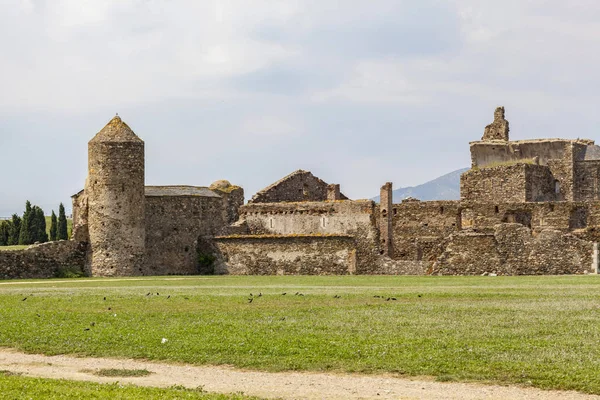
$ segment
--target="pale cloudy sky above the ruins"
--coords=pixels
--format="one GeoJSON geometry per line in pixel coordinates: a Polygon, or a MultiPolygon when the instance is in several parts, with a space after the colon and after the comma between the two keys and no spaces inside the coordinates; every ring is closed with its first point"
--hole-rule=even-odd
{"type": "Polygon", "coordinates": [[[352,198],[469,165],[494,108],[513,139],[596,138],[596,0],[0,0],[0,216],[83,187],[119,115],[150,185],[296,170],[352,198]]]}

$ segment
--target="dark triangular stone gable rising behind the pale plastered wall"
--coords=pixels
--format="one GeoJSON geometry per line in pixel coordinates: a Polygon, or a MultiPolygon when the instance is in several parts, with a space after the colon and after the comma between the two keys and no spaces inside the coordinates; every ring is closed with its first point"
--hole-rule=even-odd
{"type": "MultiPolygon", "coordinates": [[[[300,169],[256,193],[249,203],[325,201],[327,188],[327,182],[300,169]]],[[[348,199],[343,194],[340,197],[348,199]]]]}

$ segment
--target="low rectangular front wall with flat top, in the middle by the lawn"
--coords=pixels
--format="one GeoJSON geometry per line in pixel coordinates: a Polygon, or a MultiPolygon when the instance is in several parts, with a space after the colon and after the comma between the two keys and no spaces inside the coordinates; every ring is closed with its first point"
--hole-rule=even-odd
{"type": "Polygon", "coordinates": [[[239,235],[215,239],[215,274],[347,275],[356,272],[354,238],[345,235],[239,235]]]}

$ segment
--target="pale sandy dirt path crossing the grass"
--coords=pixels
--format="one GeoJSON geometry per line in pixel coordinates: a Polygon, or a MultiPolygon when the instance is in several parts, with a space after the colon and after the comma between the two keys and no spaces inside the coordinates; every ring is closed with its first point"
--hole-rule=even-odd
{"type": "Polygon", "coordinates": [[[531,388],[440,383],[391,376],[255,372],[129,359],[43,356],[10,349],[0,349],[0,370],[25,376],[104,383],[119,381],[140,386],[202,386],[210,392],[244,392],[248,395],[283,399],[600,400],[600,396],[531,388]],[[152,374],[136,378],[103,378],[90,372],[82,372],[103,368],[147,369],[152,374]]]}

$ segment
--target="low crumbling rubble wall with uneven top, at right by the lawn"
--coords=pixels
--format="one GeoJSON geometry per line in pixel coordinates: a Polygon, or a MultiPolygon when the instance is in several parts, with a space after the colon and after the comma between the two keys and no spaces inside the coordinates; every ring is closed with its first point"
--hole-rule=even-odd
{"type": "Polygon", "coordinates": [[[493,233],[462,231],[433,266],[434,275],[561,275],[592,272],[593,243],[546,229],[532,235],[521,224],[499,224],[493,233]]]}

